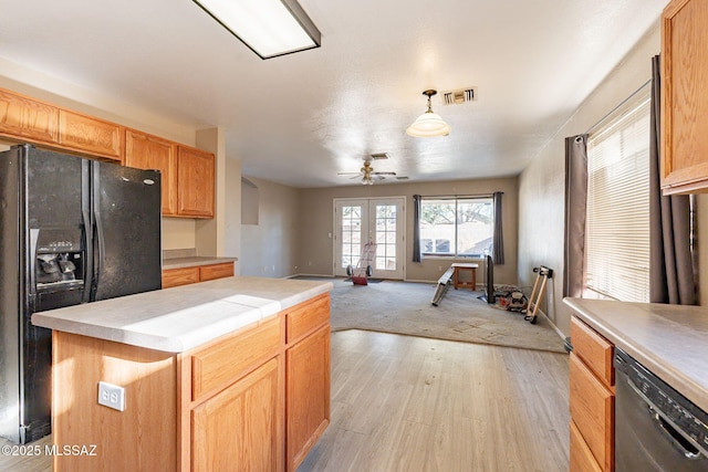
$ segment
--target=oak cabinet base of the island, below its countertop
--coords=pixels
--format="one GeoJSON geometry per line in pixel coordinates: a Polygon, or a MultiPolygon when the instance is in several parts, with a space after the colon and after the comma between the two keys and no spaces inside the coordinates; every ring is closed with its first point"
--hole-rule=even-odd
{"type": "Polygon", "coordinates": [[[294,470],[330,422],[329,307],[181,353],[54,331],[54,471],[294,470]],[[123,411],[98,403],[100,381],[124,389],[123,411]]]}

